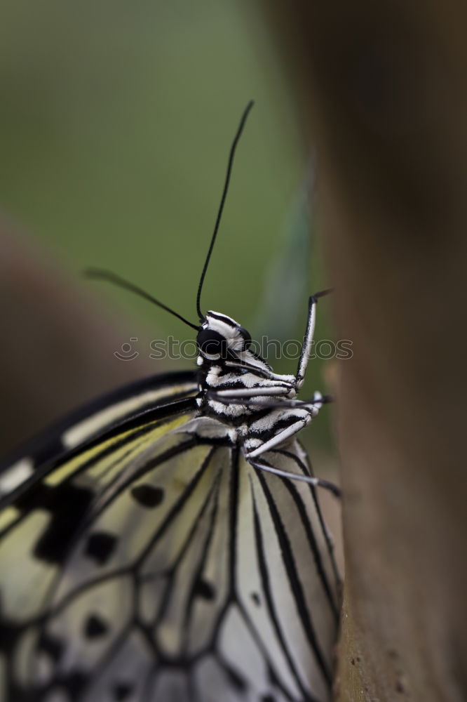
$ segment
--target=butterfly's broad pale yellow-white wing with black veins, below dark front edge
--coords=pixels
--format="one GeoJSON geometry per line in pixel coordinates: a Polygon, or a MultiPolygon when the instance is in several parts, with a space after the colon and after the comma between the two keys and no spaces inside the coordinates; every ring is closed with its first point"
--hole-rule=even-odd
{"type": "Polygon", "coordinates": [[[88,446],[2,512],[6,702],[329,698],[337,591],[313,491],[190,416],[88,446]]]}

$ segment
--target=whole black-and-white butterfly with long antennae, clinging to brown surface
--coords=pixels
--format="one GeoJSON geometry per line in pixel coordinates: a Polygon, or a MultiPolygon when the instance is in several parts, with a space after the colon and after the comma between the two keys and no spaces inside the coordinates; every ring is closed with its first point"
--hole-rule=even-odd
{"type": "MultiPolygon", "coordinates": [[[[326,398],[201,311],[196,371],[60,421],[0,471],[0,702],[326,702],[339,574],[297,435],[326,398]]],[[[337,490],[337,489],[335,489],[337,490]]],[[[335,491],[334,490],[334,491],[335,491]]]]}

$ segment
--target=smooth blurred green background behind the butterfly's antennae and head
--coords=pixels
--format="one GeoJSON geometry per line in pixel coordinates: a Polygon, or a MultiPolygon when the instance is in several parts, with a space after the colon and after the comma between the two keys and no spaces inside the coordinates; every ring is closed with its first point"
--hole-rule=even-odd
{"type": "MultiPolygon", "coordinates": [[[[130,310],[128,337],[140,324],[159,338],[191,331],[130,293],[81,281],[81,270],[114,270],[196,322],[227,154],[250,98],[203,309],[230,314],[255,337],[301,338],[308,294],[330,284],[307,223],[309,154],[286,67],[251,9],[232,0],[2,3],[0,206],[70,278],[130,310]]],[[[318,338],[330,338],[323,317],[318,338]]],[[[293,372],[296,362],[274,365],[293,372]]],[[[323,388],[318,369],[312,362],[304,396],[323,388]]],[[[330,448],[324,417],[313,436],[330,448]]]]}

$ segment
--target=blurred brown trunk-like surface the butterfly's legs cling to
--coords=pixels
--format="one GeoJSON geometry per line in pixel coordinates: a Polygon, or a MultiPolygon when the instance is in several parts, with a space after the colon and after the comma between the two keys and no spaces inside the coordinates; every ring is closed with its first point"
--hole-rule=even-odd
{"type": "Polygon", "coordinates": [[[340,702],[467,699],[467,6],[267,4],[343,364],[340,702]]]}

